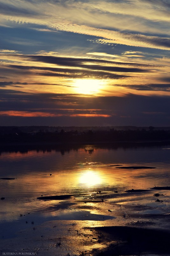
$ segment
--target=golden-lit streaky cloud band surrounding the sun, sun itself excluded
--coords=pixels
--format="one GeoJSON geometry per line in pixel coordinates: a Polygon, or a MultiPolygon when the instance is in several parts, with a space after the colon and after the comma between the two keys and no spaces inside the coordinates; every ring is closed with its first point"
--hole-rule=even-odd
{"type": "MultiPolygon", "coordinates": [[[[101,55],[103,56],[103,53],[101,55]]],[[[102,79],[103,81],[105,80],[105,86],[101,89],[103,95],[118,93],[120,92],[119,87],[131,89],[136,94],[137,91],[163,92],[169,90],[165,83],[160,85],[160,79],[164,81],[163,78],[160,78],[160,74],[161,72],[164,74],[164,70],[167,67],[151,65],[149,61],[148,64],[147,62],[144,64],[120,60],[114,61],[110,58],[70,57],[48,54],[24,55],[2,53],[0,56],[4,60],[0,71],[9,76],[7,81],[0,81],[1,87],[23,86],[23,90],[27,90],[27,92],[29,90],[31,92],[35,88],[37,91],[42,92],[47,89],[47,86],[53,86],[51,90],[56,91],[59,87],[76,88],[74,79],[102,79]],[[6,59],[8,62],[6,62],[6,59]],[[20,77],[20,81],[17,81],[17,76],[20,77]],[[49,82],[50,77],[52,80],[49,82]],[[45,79],[44,83],[39,82],[42,79],[45,79]],[[56,79],[58,79],[57,83],[56,79]],[[121,79],[121,82],[118,81],[119,79],[121,79]],[[141,84],[141,80],[145,81],[145,84],[141,84]],[[56,87],[54,87],[55,85],[56,87]]],[[[61,90],[58,92],[61,92],[61,90]]],[[[71,93],[68,90],[67,92],[71,93]]],[[[79,92],[81,91],[79,90],[79,92]]],[[[127,94],[128,90],[122,91],[122,93],[127,94]]]]}

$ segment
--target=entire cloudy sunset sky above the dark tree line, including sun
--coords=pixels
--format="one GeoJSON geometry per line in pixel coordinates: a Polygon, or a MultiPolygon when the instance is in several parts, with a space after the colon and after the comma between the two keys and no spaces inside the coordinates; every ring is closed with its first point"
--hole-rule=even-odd
{"type": "Polygon", "coordinates": [[[1,126],[170,126],[169,0],[0,0],[1,126]]]}

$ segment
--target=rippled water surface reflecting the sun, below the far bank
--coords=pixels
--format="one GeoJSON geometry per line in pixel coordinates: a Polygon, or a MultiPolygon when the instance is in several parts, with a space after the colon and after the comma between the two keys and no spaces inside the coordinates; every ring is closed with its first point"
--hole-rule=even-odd
{"type": "Polygon", "coordinates": [[[41,195],[124,193],[132,188],[170,186],[168,143],[2,150],[0,163],[0,178],[15,178],[0,179],[0,197],[5,197],[0,200],[0,222],[21,217],[25,222],[28,214],[46,216],[48,212],[52,216],[50,206],[61,201],[37,200],[41,195]],[[155,169],[118,169],[110,165],[155,169]]]}

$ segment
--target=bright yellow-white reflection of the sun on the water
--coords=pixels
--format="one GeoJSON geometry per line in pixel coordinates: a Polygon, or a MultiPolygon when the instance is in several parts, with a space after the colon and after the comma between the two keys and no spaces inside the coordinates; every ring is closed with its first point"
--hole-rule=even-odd
{"type": "Polygon", "coordinates": [[[102,178],[96,172],[86,171],[82,174],[82,176],[80,176],[80,183],[93,186],[93,185],[101,184],[102,178]]]}

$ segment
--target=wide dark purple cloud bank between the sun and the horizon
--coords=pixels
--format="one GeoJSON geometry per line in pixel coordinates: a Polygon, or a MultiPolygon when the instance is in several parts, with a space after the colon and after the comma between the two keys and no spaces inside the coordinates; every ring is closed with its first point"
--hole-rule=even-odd
{"type": "MultiPolygon", "coordinates": [[[[5,117],[11,120],[11,125],[20,125],[34,120],[34,125],[140,125],[168,126],[169,125],[169,97],[168,96],[142,96],[128,94],[118,96],[87,96],[78,94],[29,94],[15,90],[1,89],[1,111],[41,111],[60,115],[61,117],[5,117]],[[69,117],[75,114],[100,114],[111,117],[69,117]],[[154,115],[153,115],[154,113],[154,115]],[[160,114],[161,113],[161,114],[160,114]],[[11,118],[11,119],[10,119],[11,118]],[[33,119],[30,119],[33,118],[33,119]],[[13,123],[13,121],[15,122],[13,123]],[[23,121],[22,121],[23,120],[23,121]],[[41,122],[40,122],[41,120],[41,122]],[[43,121],[44,120],[44,121],[43,121]],[[19,125],[19,124],[18,124],[19,125]]],[[[3,116],[4,117],[4,116],[3,116]]],[[[2,116],[0,117],[2,120],[2,116]]],[[[7,121],[6,121],[7,122],[7,121]]]]}

